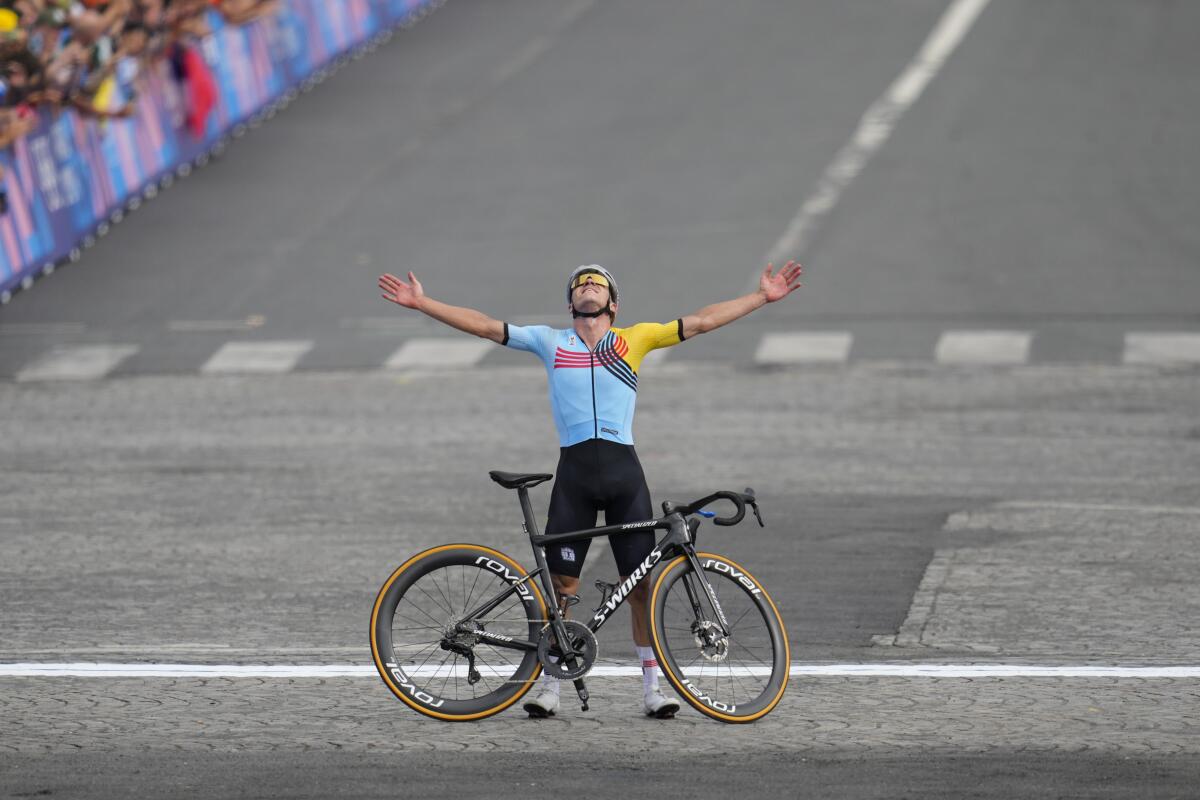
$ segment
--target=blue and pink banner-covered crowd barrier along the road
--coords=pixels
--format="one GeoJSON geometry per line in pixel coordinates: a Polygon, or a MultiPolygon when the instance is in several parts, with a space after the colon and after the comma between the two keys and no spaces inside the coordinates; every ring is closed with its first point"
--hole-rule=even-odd
{"type": "MultiPolygon", "coordinates": [[[[0,216],[0,301],[77,260],[110,224],[205,163],[230,136],[290,102],[338,59],[437,2],[283,0],[278,13],[240,26],[211,12],[212,34],[192,52],[208,65],[203,115],[188,96],[194,85],[179,76],[181,65],[167,60],[137,78],[128,119],[40,112],[37,128],[0,151],[10,206],[0,216]]],[[[127,90],[116,82],[115,92],[127,90]]]]}

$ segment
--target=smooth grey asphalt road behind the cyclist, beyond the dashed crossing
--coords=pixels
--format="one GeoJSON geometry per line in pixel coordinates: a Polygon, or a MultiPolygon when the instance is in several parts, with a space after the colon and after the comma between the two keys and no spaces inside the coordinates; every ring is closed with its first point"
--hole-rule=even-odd
{"type": "MultiPolygon", "coordinates": [[[[556,324],[580,263],[626,321],[733,296],[944,7],[450,2],[0,311],[0,373],[76,342],[193,372],[229,338],[377,367],[437,332],[384,270],[556,324]]],[[[989,5],[799,254],[802,296],[672,357],[834,329],[928,360],[942,330],[1016,327],[1033,361],[1111,362],[1124,332],[1200,330],[1198,13],[989,5]]]]}

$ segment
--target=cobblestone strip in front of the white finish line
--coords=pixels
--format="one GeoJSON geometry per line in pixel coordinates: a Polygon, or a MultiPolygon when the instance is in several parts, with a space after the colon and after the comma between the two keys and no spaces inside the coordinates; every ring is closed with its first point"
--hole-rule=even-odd
{"type": "Polygon", "coordinates": [[[647,720],[635,680],[595,679],[592,710],[478,723],[420,717],[365,679],[5,679],[0,751],[469,751],[878,753],[1057,751],[1200,754],[1200,681],[793,679],[751,726],[690,709],[647,720]]]}

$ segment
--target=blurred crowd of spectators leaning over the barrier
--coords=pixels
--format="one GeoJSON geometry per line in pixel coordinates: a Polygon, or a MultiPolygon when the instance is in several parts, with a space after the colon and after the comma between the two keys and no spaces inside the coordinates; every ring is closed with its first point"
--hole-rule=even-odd
{"type": "Polygon", "coordinates": [[[200,136],[215,88],[196,42],[209,32],[210,10],[244,24],[277,2],[0,0],[0,148],[37,126],[38,108],[130,116],[138,76],[156,59],[170,60],[187,95],[188,126],[200,136]]]}

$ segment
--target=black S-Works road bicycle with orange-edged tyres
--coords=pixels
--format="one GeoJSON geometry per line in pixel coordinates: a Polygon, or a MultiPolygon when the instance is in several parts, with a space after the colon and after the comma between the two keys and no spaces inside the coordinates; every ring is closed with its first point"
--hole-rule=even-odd
{"type": "Polygon", "coordinates": [[[775,603],[745,567],[696,549],[700,517],[736,525],[749,505],[763,525],[752,489],[715,492],[688,504],[668,500],[656,519],[542,535],[529,489],[553,475],[490,475],[517,491],[536,569],[527,571],[491,547],[443,545],[391,573],[371,613],[371,654],[404,704],[438,720],[481,720],[520,700],[545,670],[574,681],[587,711],[583,678],[596,662],[595,633],[652,572],[648,628],[676,692],[722,722],[752,722],[779,704],[791,652],[775,603]],[[733,504],[732,515],[707,509],[722,500],[733,504]],[[587,621],[566,616],[577,596],[546,602],[554,589],[544,547],[641,529],[666,534],[622,583],[596,582],[600,604],[587,621]]]}

